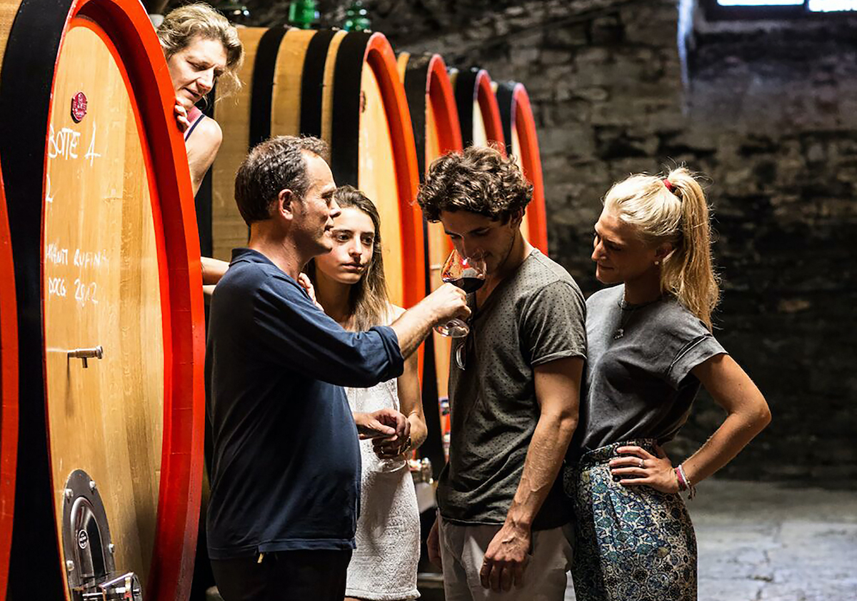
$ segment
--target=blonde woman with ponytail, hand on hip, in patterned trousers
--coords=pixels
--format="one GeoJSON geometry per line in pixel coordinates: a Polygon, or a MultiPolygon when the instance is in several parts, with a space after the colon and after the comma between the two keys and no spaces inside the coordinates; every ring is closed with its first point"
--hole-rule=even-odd
{"type": "Polygon", "coordinates": [[[587,364],[564,485],[578,601],[692,601],[696,538],[679,493],[770,422],[764,397],[712,334],[719,297],[709,209],[686,169],[614,184],[595,225],[587,364]],[[660,445],[704,386],[727,417],[679,466],[660,445]]]}

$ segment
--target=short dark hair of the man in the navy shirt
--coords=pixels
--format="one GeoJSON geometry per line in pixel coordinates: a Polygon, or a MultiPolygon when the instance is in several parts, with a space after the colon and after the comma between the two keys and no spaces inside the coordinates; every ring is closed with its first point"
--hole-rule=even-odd
{"type": "Polygon", "coordinates": [[[303,198],[309,188],[303,152],[327,160],[327,143],[310,136],[278,135],[260,142],[238,167],[235,201],[247,225],[271,219],[271,206],[280,190],[303,198]]]}

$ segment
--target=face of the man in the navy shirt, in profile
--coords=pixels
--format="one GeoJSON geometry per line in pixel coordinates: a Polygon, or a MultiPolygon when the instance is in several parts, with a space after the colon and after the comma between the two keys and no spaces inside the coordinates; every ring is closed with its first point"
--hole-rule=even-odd
{"type": "Polygon", "coordinates": [[[336,183],[327,161],[314,153],[303,152],[307,164],[309,188],[301,199],[291,201],[293,232],[299,247],[312,256],[333,249],[333,220],[339,217],[339,205],[333,200],[336,183]]]}

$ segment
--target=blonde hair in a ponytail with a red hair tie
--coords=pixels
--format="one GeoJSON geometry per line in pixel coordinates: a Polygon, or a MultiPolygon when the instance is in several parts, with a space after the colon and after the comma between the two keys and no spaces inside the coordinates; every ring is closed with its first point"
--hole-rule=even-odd
{"type": "Polygon", "coordinates": [[[691,172],[680,167],[665,178],[633,175],[614,184],[604,206],[637,226],[646,243],[673,245],[662,261],[661,291],[711,329],[720,289],[711,258],[709,207],[691,172]]]}

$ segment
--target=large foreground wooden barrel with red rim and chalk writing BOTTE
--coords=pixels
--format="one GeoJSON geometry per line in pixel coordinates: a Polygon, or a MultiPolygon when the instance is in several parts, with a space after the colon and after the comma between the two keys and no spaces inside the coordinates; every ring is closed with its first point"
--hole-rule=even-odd
{"type": "Polygon", "coordinates": [[[134,572],[147,599],[182,600],[204,325],[166,63],[136,0],[0,6],[15,15],[0,164],[26,382],[9,596],[70,599],[69,586],[134,572]]]}

